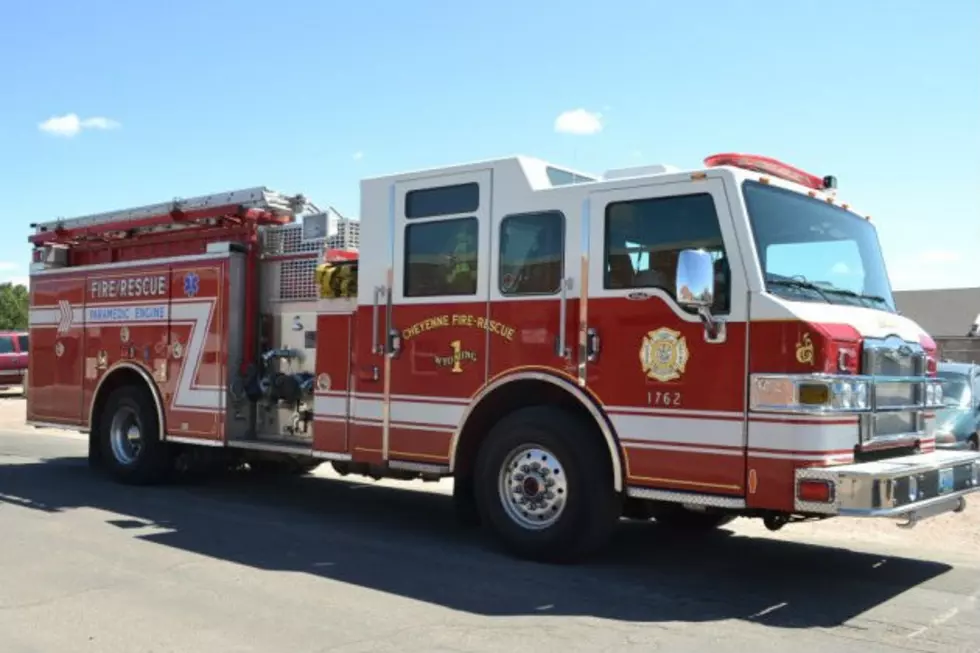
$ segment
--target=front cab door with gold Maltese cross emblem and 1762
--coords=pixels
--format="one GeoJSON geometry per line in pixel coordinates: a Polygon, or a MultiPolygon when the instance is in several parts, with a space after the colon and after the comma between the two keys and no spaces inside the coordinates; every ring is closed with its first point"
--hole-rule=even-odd
{"type": "Polygon", "coordinates": [[[743,496],[745,280],[721,181],[624,185],[588,200],[588,386],[620,438],[627,482],[743,496]],[[677,257],[715,260],[712,337],[675,301],[677,257]]]}

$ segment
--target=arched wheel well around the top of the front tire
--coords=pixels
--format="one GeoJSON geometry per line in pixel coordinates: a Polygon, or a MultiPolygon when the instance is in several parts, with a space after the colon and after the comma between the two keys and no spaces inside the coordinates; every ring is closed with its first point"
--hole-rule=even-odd
{"type": "Polygon", "coordinates": [[[607,451],[611,448],[606,458],[607,464],[612,466],[614,478],[617,481],[620,480],[622,476],[619,470],[622,469],[622,461],[616,442],[612,441],[611,444],[609,442],[614,437],[611,429],[607,437],[596,421],[596,414],[583,403],[589,400],[577,397],[570,389],[562,387],[560,383],[542,379],[519,379],[504,383],[480,400],[467,416],[463,430],[459,434],[459,441],[452,457],[454,476],[457,479],[472,477],[480,445],[500,418],[528,406],[547,405],[562,408],[584,422],[593,425],[594,437],[607,445],[607,451]]]}

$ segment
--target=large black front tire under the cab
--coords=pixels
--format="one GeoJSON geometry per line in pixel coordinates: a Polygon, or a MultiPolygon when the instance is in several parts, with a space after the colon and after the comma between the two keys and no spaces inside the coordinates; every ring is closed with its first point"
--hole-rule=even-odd
{"type": "MultiPolygon", "coordinates": [[[[522,468],[515,467],[519,472],[522,468]]],[[[543,479],[541,483],[535,480],[534,484],[547,489],[544,480],[549,476],[534,474],[536,479],[543,479]]],[[[538,562],[570,563],[595,553],[611,536],[622,507],[613,488],[609,454],[602,440],[591,425],[552,406],[523,408],[497,422],[477,454],[474,480],[477,509],[484,527],[504,550],[538,562]],[[538,515],[532,515],[547,520],[551,517],[544,515],[553,511],[557,517],[546,526],[536,524],[539,527],[532,528],[519,523],[521,517],[512,514],[528,513],[513,499],[505,507],[498,490],[502,468],[512,452],[522,445],[551,452],[553,457],[547,460],[551,466],[548,475],[556,482],[563,475],[560,483],[567,488],[567,493],[563,491],[560,495],[566,497],[561,507],[551,504],[540,508],[538,515]]],[[[511,487],[516,489],[520,483],[527,489],[525,481],[515,480],[511,487]]],[[[561,488],[561,484],[557,487],[561,488]]]]}

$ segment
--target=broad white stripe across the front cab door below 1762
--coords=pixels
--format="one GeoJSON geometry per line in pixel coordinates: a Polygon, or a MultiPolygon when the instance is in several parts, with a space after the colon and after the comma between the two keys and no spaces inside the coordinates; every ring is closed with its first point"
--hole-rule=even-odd
{"type": "Polygon", "coordinates": [[[621,440],[660,441],[672,444],[741,447],[741,421],[684,419],[645,415],[610,415],[621,440]]]}

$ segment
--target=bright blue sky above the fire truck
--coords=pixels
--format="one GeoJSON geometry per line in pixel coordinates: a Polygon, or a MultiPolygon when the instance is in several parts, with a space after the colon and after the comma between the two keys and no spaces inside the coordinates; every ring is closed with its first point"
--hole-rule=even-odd
{"type": "Polygon", "coordinates": [[[20,26],[0,40],[6,278],[26,275],[30,222],[178,195],[267,185],[357,215],[359,178],[417,167],[523,153],[598,173],[745,151],[837,175],[896,288],[980,285],[975,0],[4,13],[20,26]],[[556,132],[577,109],[602,129],[556,132]],[[39,128],[53,117],[62,135],[39,128]]]}

